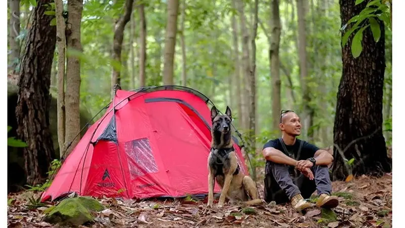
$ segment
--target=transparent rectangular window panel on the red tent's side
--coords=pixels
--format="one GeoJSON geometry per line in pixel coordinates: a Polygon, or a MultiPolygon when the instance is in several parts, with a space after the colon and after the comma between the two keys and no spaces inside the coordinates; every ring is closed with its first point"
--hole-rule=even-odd
{"type": "Polygon", "coordinates": [[[147,138],[126,142],[125,153],[128,156],[128,167],[132,179],[157,172],[157,165],[147,138]]]}

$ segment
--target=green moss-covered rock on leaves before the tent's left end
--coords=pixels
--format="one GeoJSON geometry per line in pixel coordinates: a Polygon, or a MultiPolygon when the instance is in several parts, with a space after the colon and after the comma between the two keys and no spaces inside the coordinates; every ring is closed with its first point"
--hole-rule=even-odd
{"type": "Polygon", "coordinates": [[[99,212],[103,209],[103,205],[91,197],[65,199],[44,211],[46,214],[44,220],[60,225],[78,226],[93,221],[92,212],[99,212]]]}

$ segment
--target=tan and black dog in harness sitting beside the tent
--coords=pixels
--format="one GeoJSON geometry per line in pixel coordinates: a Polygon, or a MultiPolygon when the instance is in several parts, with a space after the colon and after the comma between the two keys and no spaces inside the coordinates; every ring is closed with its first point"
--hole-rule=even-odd
{"type": "Polygon", "coordinates": [[[232,113],[226,106],[225,115],[219,115],[215,106],[211,108],[211,151],[208,156],[208,207],[214,201],[215,180],[221,186],[218,206],[224,205],[228,198],[230,203],[242,201],[246,205],[263,203],[258,197],[257,187],[250,176],[239,172],[236,154],[233,148],[231,121],[232,113]],[[249,197],[252,199],[250,201],[249,197]]]}

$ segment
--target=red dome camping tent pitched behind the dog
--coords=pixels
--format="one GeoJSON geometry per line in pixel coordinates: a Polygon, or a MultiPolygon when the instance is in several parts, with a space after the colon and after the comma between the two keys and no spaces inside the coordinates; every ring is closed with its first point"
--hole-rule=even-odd
{"type": "MultiPolygon", "coordinates": [[[[125,199],[208,194],[209,102],[187,87],[117,90],[105,114],[66,158],[42,201],[72,192],[125,199]]],[[[235,150],[241,172],[248,174],[240,148],[235,150]]],[[[220,192],[218,184],[215,192],[220,192]]]]}

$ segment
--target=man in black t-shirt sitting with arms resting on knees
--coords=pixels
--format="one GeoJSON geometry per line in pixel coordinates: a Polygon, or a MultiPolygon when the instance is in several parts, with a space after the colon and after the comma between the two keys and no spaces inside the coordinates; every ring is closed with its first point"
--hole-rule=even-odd
{"type": "Polygon", "coordinates": [[[337,197],[331,196],[329,168],[333,156],[296,137],[301,134],[301,121],[291,110],[281,111],[279,128],[281,138],[269,140],[263,146],[266,159],[264,198],[266,202],[291,202],[302,211],[312,205],[305,201],[315,189],[319,195],[318,207],[338,206],[337,197]]]}

